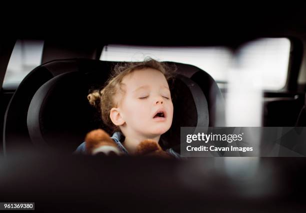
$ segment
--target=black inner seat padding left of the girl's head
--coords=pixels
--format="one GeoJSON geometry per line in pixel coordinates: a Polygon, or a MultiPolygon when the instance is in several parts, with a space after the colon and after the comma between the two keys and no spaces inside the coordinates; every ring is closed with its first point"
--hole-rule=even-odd
{"type": "Polygon", "coordinates": [[[104,72],[64,73],[51,79],[35,93],[27,115],[34,144],[72,151],[85,134],[103,128],[96,109],[88,104],[88,89],[94,80],[103,83],[104,72]]]}

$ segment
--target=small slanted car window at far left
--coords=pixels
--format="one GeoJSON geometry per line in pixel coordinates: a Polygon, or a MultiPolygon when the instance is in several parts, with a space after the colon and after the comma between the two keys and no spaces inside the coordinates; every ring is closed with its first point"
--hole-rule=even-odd
{"type": "Polygon", "coordinates": [[[11,53],[3,89],[16,88],[22,79],[41,63],[43,41],[17,40],[11,53]]]}

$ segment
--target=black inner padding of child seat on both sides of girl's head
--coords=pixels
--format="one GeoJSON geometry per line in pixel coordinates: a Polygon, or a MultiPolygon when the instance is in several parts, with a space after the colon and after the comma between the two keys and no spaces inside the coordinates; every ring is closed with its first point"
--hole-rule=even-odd
{"type": "MultiPolygon", "coordinates": [[[[35,144],[48,145],[72,152],[85,134],[103,128],[96,109],[87,101],[93,84],[103,85],[108,72],[64,73],[46,82],[33,96],[27,126],[35,144]]],[[[192,80],[177,75],[173,82],[174,114],[171,129],[162,135],[161,145],[179,144],[181,126],[208,126],[208,106],[200,87],[192,80]]]]}

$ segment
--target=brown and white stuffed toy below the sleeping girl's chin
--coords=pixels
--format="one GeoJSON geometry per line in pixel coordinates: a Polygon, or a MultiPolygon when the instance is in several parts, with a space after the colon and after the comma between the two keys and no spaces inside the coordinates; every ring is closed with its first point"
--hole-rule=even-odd
{"type": "MultiPolygon", "coordinates": [[[[105,155],[122,155],[116,143],[102,129],[92,130],[85,137],[86,150],[88,154],[95,155],[103,153],[105,155]]],[[[152,156],[171,158],[167,152],[163,151],[159,144],[151,139],[141,141],[134,154],[135,156],[152,156]]]]}

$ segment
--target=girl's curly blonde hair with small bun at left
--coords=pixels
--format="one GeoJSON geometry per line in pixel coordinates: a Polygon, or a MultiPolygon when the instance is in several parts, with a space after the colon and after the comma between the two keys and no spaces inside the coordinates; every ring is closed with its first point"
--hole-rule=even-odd
{"type": "MultiPolygon", "coordinates": [[[[110,131],[119,131],[119,127],[114,125],[110,120],[109,113],[111,108],[117,107],[114,97],[118,92],[124,92],[122,89],[123,78],[135,70],[152,68],[160,71],[166,78],[167,82],[174,80],[175,66],[170,67],[163,62],[158,62],[151,58],[145,58],[143,62],[119,63],[114,66],[109,79],[105,82],[102,89],[92,91],[87,99],[92,106],[98,108],[101,112],[103,123],[110,131]]],[[[171,84],[170,84],[171,85],[171,84]]]]}

